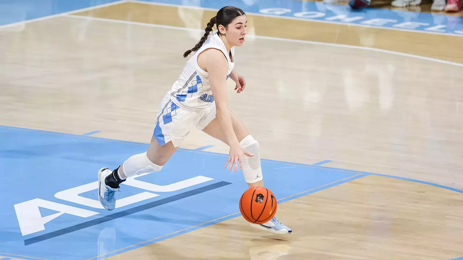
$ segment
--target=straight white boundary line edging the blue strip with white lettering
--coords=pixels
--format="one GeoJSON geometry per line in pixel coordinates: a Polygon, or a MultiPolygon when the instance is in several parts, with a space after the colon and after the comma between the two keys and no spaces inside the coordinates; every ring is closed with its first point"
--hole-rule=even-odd
{"type": "MultiPolygon", "coordinates": [[[[172,7],[181,7],[181,8],[191,8],[197,10],[207,10],[207,11],[219,11],[219,9],[213,8],[206,8],[200,6],[182,6],[182,5],[175,5],[175,4],[164,4],[164,3],[156,3],[156,2],[148,2],[143,0],[127,0],[129,3],[139,3],[139,4],[148,4],[148,5],[155,5],[155,6],[172,6],[172,7]]],[[[291,11],[293,12],[293,11],[291,11]]],[[[311,18],[297,18],[291,16],[280,16],[280,15],[272,15],[272,14],[265,14],[260,12],[248,12],[249,14],[256,15],[256,16],[263,16],[263,17],[271,17],[271,18],[280,18],[280,19],[290,19],[290,20],[298,20],[298,21],[306,21],[306,22],[316,22],[316,23],[324,23],[324,24],[335,24],[335,25],[350,25],[350,26],[359,26],[359,27],[367,27],[367,28],[378,28],[378,29],[386,29],[386,30],[393,30],[393,31],[409,31],[409,32],[417,32],[417,33],[427,33],[427,34],[438,34],[438,35],[446,35],[446,36],[456,36],[456,37],[463,37],[463,34],[453,34],[447,32],[438,32],[438,31],[420,31],[420,30],[410,30],[405,28],[396,28],[396,27],[385,27],[385,26],[377,26],[377,25],[362,25],[362,24],[353,24],[353,23],[342,23],[336,21],[329,21],[329,20],[320,20],[320,19],[311,19],[311,18]]]]}

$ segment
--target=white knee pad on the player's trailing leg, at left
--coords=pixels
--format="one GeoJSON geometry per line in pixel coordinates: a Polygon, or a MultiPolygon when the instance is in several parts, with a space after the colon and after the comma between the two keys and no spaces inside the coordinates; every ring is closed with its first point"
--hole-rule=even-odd
{"type": "Polygon", "coordinates": [[[151,162],[150,159],[148,159],[146,152],[143,154],[132,155],[122,164],[122,170],[127,178],[144,173],[158,172],[162,168],[162,166],[151,162]]]}

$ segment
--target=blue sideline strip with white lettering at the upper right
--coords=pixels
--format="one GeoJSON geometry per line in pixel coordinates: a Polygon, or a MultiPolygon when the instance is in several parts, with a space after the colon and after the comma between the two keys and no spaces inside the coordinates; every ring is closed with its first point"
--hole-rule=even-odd
{"type": "Polygon", "coordinates": [[[204,0],[191,2],[183,0],[138,0],[138,2],[217,10],[225,5],[231,5],[240,7],[246,13],[260,13],[274,17],[463,36],[463,20],[461,17],[443,13],[422,13],[382,8],[365,8],[357,11],[352,10],[347,5],[301,0],[204,0]]]}

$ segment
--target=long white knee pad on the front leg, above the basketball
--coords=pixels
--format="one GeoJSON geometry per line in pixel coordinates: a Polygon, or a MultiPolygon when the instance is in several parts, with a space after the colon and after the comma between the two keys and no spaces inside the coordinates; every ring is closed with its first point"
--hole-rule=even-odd
{"type": "Polygon", "coordinates": [[[247,152],[254,155],[249,157],[243,155],[243,175],[247,183],[255,183],[262,180],[262,168],[260,166],[260,146],[252,136],[244,137],[240,146],[247,152]]]}

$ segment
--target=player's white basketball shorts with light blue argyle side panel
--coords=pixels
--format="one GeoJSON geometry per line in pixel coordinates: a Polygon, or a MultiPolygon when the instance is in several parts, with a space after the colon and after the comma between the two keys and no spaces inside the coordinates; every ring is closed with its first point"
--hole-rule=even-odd
{"type": "Polygon", "coordinates": [[[174,147],[179,147],[193,127],[203,130],[215,118],[215,103],[200,111],[187,111],[172,102],[167,93],[157,114],[154,137],[161,146],[172,141],[174,147]]]}

